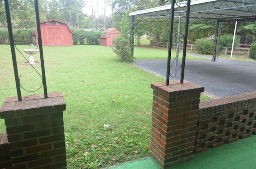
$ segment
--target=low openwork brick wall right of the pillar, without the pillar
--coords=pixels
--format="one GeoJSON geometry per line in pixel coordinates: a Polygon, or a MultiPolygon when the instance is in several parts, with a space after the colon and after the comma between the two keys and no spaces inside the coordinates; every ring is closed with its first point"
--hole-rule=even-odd
{"type": "Polygon", "coordinates": [[[194,153],[256,133],[256,92],[200,102],[194,153]]]}

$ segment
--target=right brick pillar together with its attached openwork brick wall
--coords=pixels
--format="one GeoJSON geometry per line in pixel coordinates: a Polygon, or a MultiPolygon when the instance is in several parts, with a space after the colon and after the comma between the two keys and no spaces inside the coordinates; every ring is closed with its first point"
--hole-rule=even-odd
{"type": "Polygon", "coordinates": [[[256,92],[200,102],[204,88],[187,81],[151,88],[151,155],[163,168],[256,134],[256,92]]]}

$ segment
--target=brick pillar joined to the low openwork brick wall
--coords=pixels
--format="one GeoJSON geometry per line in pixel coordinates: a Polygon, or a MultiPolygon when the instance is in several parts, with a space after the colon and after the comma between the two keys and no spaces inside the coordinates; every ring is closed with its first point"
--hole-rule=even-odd
{"type": "Polygon", "coordinates": [[[204,87],[188,81],[152,83],[151,155],[163,167],[193,158],[200,94],[204,87]]]}

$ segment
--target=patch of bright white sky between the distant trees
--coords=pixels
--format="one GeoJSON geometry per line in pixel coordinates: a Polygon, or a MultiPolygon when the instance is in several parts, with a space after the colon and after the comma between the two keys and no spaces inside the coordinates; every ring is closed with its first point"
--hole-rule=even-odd
{"type": "MultiPolygon", "coordinates": [[[[99,4],[99,16],[104,15],[104,1],[106,0],[98,0],[99,4]]],[[[86,6],[84,6],[84,13],[89,15],[92,15],[91,8],[94,8],[95,16],[98,15],[98,9],[97,9],[97,0],[85,0],[86,6]]],[[[106,8],[106,16],[110,16],[112,14],[112,10],[107,2],[105,2],[105,8],[106,8]]]]}

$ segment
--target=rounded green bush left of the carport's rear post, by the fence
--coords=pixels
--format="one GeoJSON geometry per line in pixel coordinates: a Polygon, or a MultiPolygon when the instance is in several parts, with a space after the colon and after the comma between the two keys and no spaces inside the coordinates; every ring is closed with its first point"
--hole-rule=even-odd
{"type": "Polygon", "coordinates": [[[200,54],[212,54],[213,52],[214,43],[212,39],[197,39],[195,45],[196,51],[200,54]]]}

